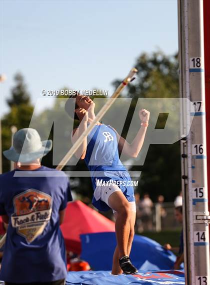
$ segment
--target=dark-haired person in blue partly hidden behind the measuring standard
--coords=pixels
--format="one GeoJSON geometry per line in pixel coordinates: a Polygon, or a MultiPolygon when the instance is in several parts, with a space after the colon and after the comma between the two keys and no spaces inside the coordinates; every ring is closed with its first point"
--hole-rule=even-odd
{"type": "MultiPolygon", "coordinates": [[[[182,206],[178,206],[175,208],[174,211],[175,219],[177,222],[181,223],[183,222],[183,216],[182,216],[182,206]]],[[[180,269],[180,265],[183,262],[183,229],[181,230],[180,234],[180,240],[179,240],[179,248],[171,247],[169,243],[164,244],[163,246],[165,249],[178,252],[178,256],[176,257],[176,261],[174,263],[174,269],[180,269]]]]}

